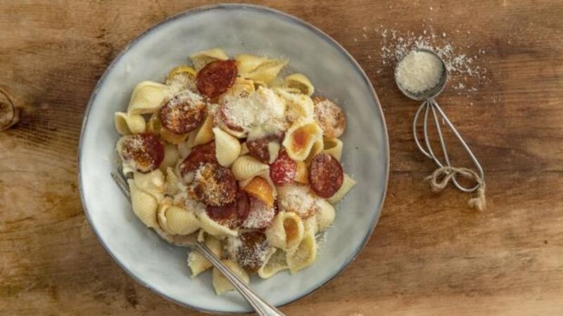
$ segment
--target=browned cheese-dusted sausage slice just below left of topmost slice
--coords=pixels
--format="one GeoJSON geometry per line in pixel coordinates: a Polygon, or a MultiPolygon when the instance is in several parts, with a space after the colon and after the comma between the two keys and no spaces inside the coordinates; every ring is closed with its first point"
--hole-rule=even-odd
{"type": "Polygon", "coordinates": [[[199,126],[205,117],[205,110],[201,96],[184,91],[171,98],[160,109],[160,121],[171,133],[185,134],[199,126]]]}

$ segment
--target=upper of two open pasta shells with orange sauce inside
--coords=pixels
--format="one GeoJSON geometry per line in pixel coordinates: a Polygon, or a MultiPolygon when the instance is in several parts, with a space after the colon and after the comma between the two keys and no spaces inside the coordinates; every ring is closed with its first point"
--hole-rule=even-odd
{"type": "MultiPolygon", "coordinates": [[[[322,129],[317,124],[310,123],[291,126],[282,145],[291,159],[303,162],[309,156],[313,145],[319,141],[322,141],[322,129]]],[[[322,150],[322,147],[320,148],[322,150]]]]}

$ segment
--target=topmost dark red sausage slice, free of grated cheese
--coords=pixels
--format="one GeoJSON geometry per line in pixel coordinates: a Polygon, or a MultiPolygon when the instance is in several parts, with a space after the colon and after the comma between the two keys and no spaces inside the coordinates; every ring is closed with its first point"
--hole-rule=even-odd
{"type": "Polygon", "coordinates": [[[236,60],[215,60],[198,72],[196,86],[199,93],[213,99],[234,84],[236,74],[236,60]]]}

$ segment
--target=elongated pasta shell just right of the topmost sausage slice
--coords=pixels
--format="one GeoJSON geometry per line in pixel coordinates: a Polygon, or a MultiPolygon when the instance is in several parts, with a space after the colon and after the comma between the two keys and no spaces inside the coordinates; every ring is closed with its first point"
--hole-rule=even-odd
{"type": "Polygon", "coordinates": [[[265,84],[274,80],[285,65],[287,60],[267,59],[248,54],[236,56],[236,67],[241,77],[265,84]]]}

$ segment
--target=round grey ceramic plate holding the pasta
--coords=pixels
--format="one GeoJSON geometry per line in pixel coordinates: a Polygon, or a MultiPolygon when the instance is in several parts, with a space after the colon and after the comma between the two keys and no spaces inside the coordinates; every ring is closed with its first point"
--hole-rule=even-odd
{"type": "Polygon", "coordinates": [[[248,312],[236,292],[215,296],[210,273],[189,278],[186,251],[142,225],[110,178],[118,133],[113,113],[127,107],[134,86],[162,80],[186,56],[208,48],[290,60],[289,72],[306,74],[317,93],[338,100],[348,116],[343,164],[358,185],[339,205],[334,228],[317,261],[298,275],[281,272],[253,287],[284,305],[322,287],[360,253],[372,235],[388,178],[388,139],[372,85],[344,48],[291,15],[260,6],[220,5],[173,16],[134,39],[101,77],[89,101],[79,149],[80,192],[101,244],[137,282],[176,303],[208,312],[248,312]]]}

